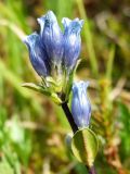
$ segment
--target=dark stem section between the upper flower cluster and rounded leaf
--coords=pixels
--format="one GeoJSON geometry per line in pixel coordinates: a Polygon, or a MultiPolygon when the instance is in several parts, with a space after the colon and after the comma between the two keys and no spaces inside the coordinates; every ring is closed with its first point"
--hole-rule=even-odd
{"type": "Polygon", "coordinates": [[[65,113],[65,115],[66,115],[66,117],[68,120],[68,123],[69,123],[69,125],[70,125],[70,127],[72,127],[72,129],[73,129],[73,132],[75,134],[78,130],[78,126],[76,125],[76,123],[75,123],[75,121],[73,119],[73,115],[72,115],[72,113],[69,111],[67,102],[62,103],[62,109],[63,109],[63,111],[64,111],[64,113],[65,113]]]}

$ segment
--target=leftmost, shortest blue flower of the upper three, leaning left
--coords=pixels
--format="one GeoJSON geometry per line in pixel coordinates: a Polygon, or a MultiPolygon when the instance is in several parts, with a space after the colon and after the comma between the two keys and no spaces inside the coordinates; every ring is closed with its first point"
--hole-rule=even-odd
{"type": "Polygon", "coordinates": [[[30,62],[38,75],[47,76],[49,72],[46,61],[48,58],[44,49],[41,47],[39,35],[37,33],[31,34],[24,39],[24,42],[28,47],[30,62]]]}

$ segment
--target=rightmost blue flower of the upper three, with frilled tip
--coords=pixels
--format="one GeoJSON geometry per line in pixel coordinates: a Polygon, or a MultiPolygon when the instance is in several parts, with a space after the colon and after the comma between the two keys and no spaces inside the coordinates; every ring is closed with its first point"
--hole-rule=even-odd
{"type": "Polygon", "coordinates": [[[70,21],[64,17],[64,66],[72,70],[77,62],[81,48],[80,30],[83,25],[83,20],[75,18],[70,21]]]}

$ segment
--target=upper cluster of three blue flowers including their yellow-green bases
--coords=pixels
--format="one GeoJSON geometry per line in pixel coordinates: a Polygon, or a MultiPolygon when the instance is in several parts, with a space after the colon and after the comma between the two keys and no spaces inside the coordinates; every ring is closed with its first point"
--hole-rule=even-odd
{"type": "Polygon", "coordinates": [[[69,94],[73,84],[70,75],[80,53],[80,30],[83,21],[64,17],[62,32],[56,16],[49,11],[38,18],[38,23],[40,34],[35,32],[24,39],[29,50],[30,62],[46,82],[48,90],[53,88],[56,94],[69,94]]]}

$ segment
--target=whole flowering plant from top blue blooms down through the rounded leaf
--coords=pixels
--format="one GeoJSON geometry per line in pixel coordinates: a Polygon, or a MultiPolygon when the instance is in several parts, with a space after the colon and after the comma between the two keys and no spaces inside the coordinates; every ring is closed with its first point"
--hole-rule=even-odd
{"type": "Polygon", "coordinates": [[[61,104],[74,132],[68,137],[68,147],[75,157],[92,166],[98,140],[89,129],[91,104],[87,96],[88,82],[74,83],[74,74],[80,54],[80,32],[82,20],[64,17],[58,26],[52,11],[38,18],[40,33],[32,33],[24,39],[29,50],[30,62],[41,77],[39,85],[26,83],[25,87],[49,96],[61,104]],[[72,113],[67,105],[73,89],[72,113]]]}

